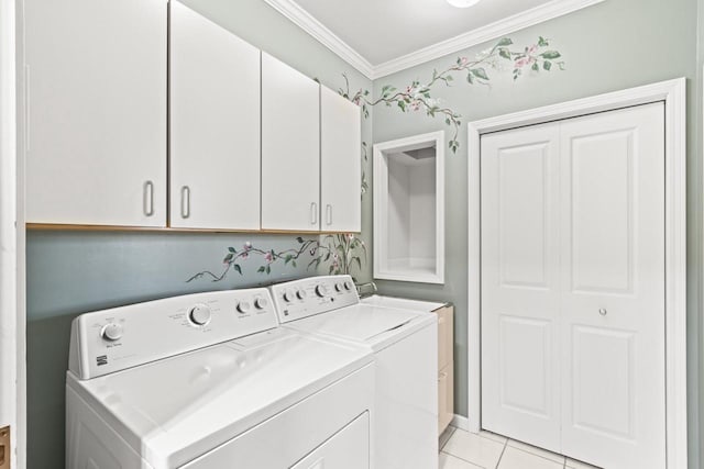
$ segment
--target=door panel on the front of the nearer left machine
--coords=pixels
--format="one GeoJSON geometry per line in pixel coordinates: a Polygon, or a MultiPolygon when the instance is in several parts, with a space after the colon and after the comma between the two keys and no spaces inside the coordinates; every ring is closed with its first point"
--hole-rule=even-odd
{"type": "Polygon", "coordinates": [[[365,412],[292,469],[369,469],[369,467],[370,414],[365,412]]]}

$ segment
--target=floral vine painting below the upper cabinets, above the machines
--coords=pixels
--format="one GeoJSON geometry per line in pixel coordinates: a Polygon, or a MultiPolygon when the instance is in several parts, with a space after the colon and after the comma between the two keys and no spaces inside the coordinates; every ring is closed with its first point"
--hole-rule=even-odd
{"type": "Polygon", "coordinates": [[[250,242],[244,243],[239,249],[230,246],[222,259],[223,269],[220,273],[204,270],[191,276],[186,282],[201,278],[209,278],[217,282],[224,280],[231,271],[243,275],[242,263],[250,258],[256,258],[254,261],[261,264],[256,271],[264,275],[271,275],[275,266],[280,263],[284,266],[297,267],[298,260],[304,254],[312,256],[306,266],[307,269],[318,269],[321,264],[329,263],[329,275],[351,275],[354,267],[361,271],[362,263],[366,260],[366,245],[353,234],[328,234],[321,238],[298,236],[296,242],[298,243],[297,247],[284,250],[261,249],[250,242]]]}

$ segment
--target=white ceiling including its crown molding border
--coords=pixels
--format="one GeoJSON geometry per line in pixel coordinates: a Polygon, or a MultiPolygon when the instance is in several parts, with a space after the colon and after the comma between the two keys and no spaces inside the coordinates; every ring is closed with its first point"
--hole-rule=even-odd
{"type": "Polygon", "coordinates": [[[370,78],[604,0],[265,0],[370,78]]]}

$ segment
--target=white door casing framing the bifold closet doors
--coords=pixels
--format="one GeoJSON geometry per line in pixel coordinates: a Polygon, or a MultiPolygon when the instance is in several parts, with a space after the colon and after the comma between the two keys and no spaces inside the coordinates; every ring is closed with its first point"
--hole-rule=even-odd
{"type": "Polygon", "coordinates": [[[629,105],[666,103],[666,394],[667,464],[688,467],[686,428],[686,81],[679,78],[578,99],[468,124],[469,286],[468,410],[471,432],[481,428],[480,137],[525,125],[629,105]]]}

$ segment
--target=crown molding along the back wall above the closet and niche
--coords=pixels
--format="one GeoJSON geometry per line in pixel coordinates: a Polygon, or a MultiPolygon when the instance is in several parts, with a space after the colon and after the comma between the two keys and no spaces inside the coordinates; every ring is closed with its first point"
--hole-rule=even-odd
{"type": "Polygon", "coordinates": [[[525,27],[572,13],[603,1],[604,0],[552,0],[410,54],[374,65],[373,79],[386,77],[387,75],[435,60],[448,54],[464,51],[477,44],[505,36],[525,27]]]}

